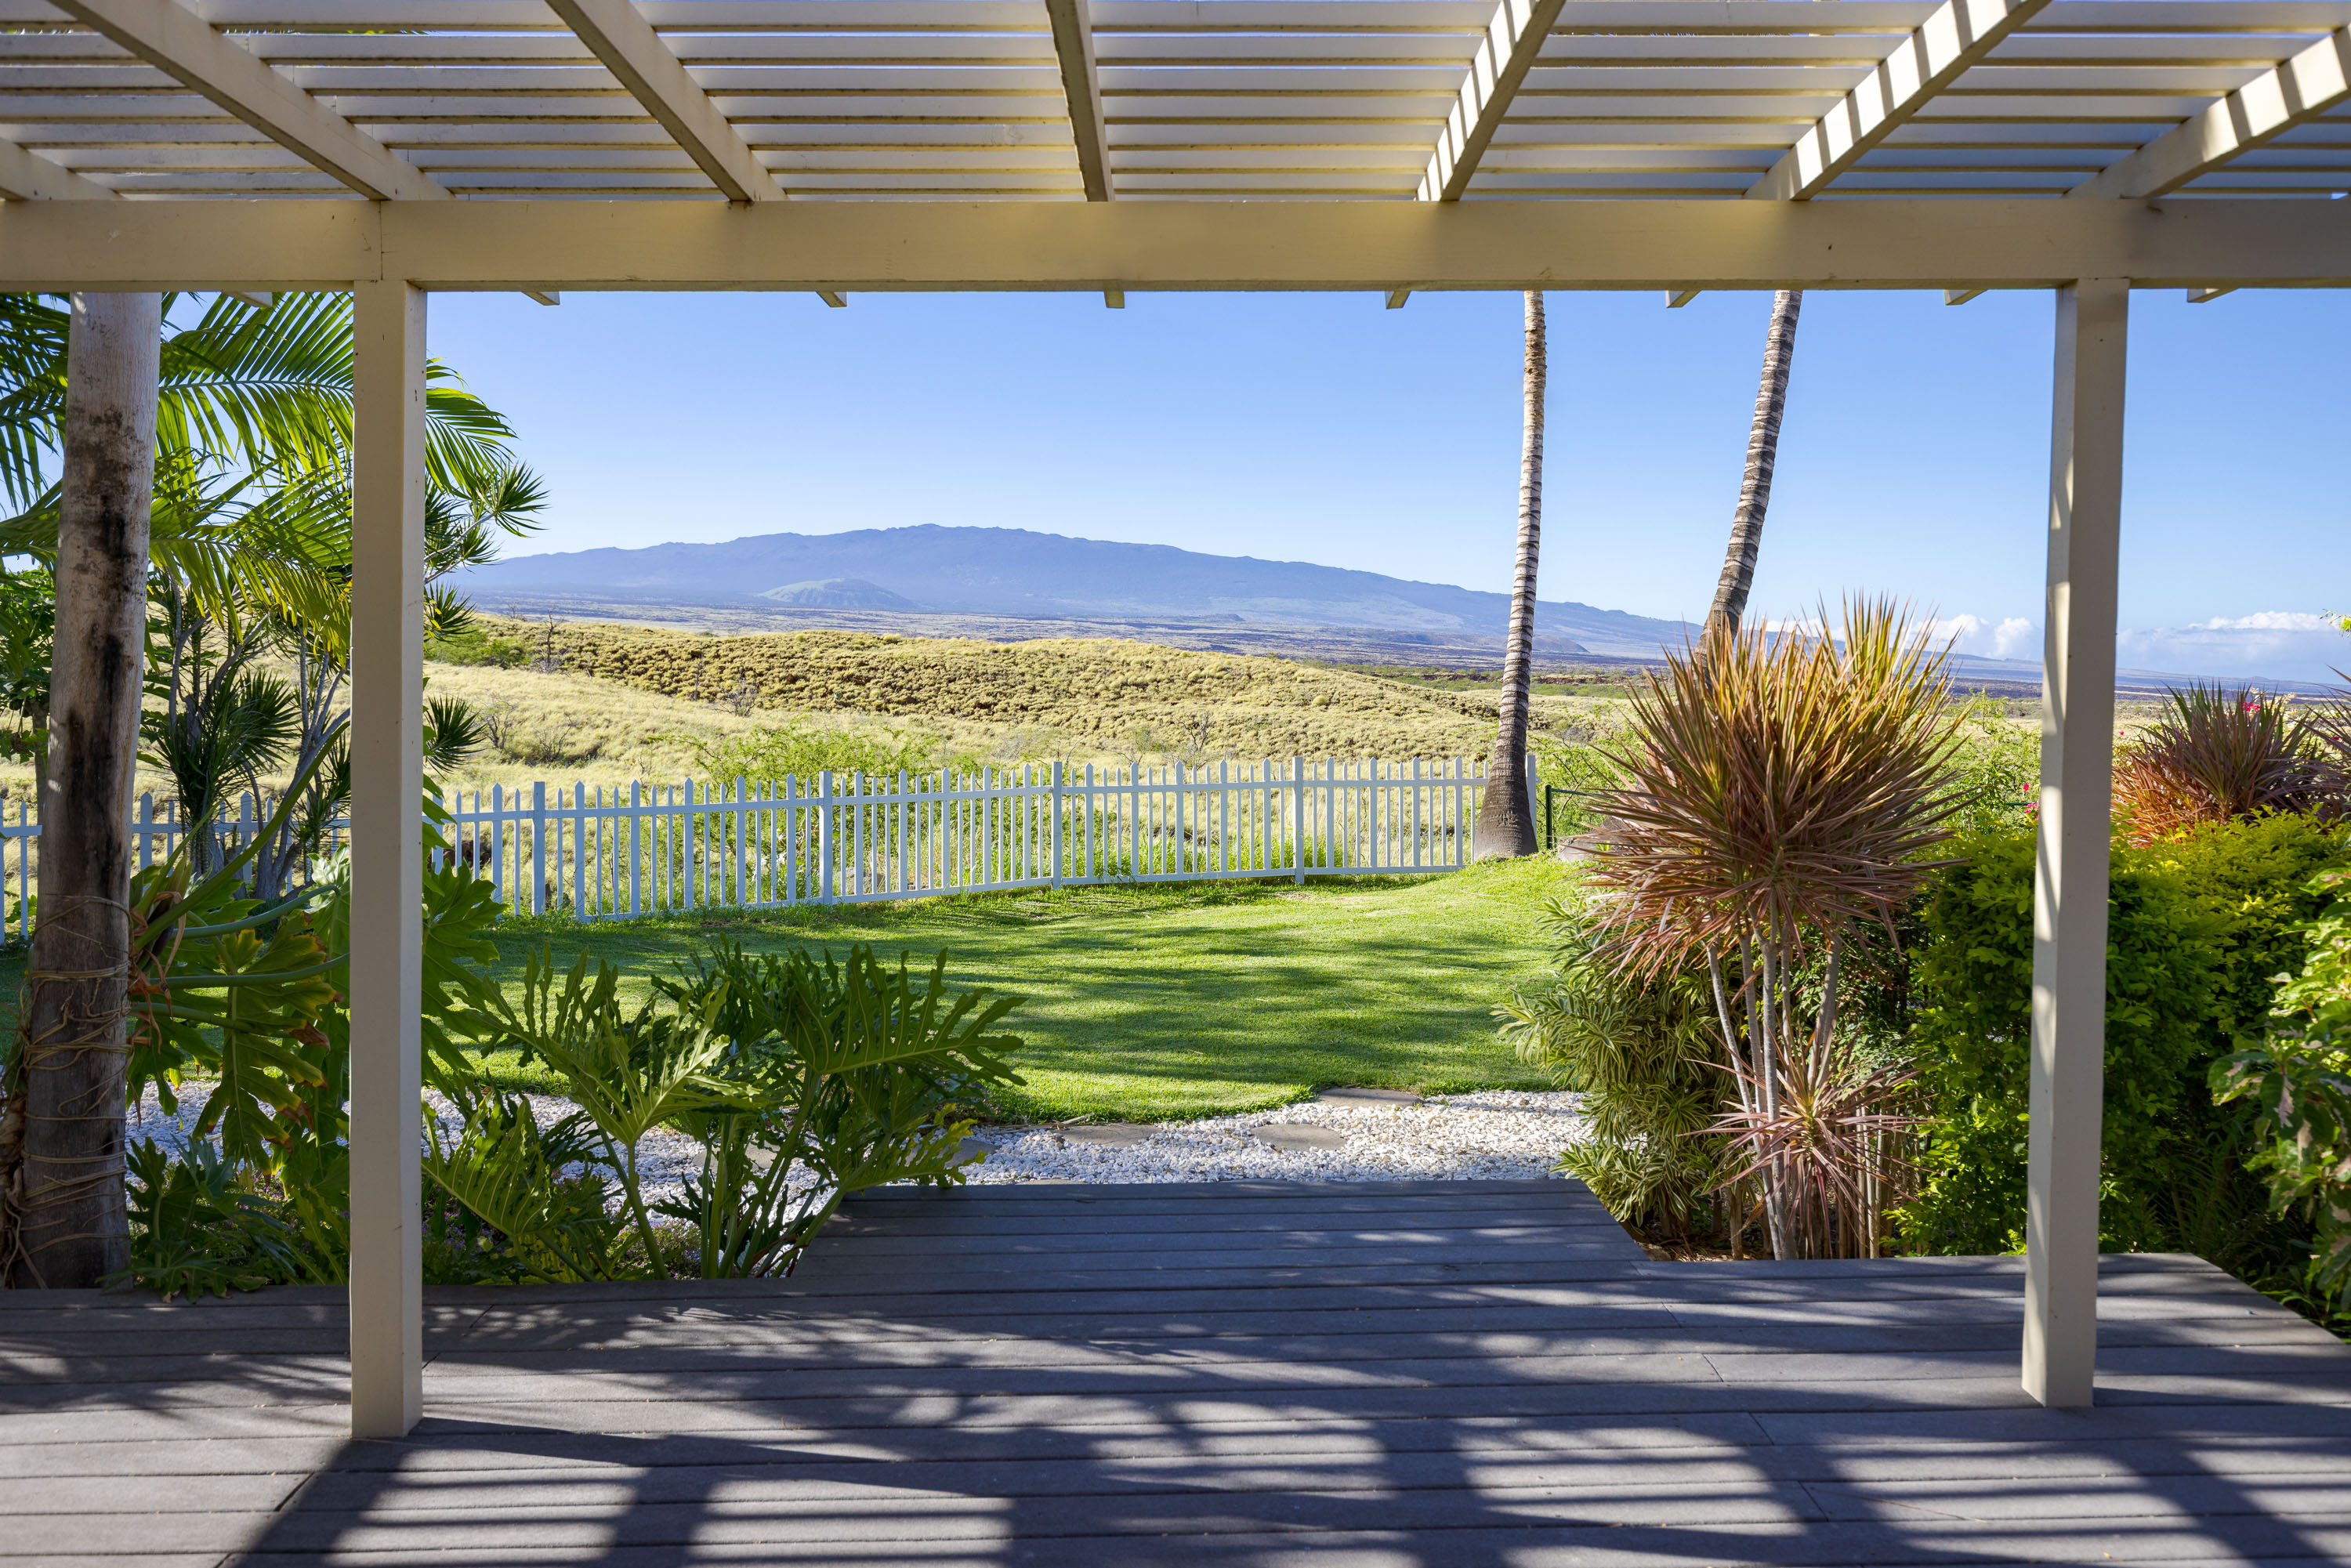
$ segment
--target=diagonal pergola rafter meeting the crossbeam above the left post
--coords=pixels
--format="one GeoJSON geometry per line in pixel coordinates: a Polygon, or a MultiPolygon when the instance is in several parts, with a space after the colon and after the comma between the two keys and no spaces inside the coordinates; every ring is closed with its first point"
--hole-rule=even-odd
{"type": "Polygon", "coordinates": [[[56,0],[56,7],[374,202],[449,195],[176,0],[56,0]]]}

